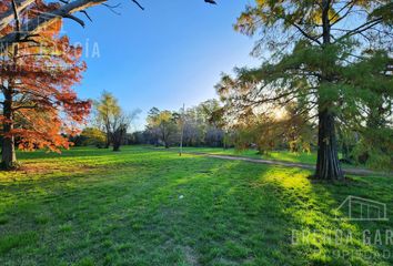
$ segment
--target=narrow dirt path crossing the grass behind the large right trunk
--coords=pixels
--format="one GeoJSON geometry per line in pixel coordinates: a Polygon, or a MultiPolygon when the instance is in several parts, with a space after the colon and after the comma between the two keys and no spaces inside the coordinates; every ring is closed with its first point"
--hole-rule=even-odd
{"type": "MultiPolygon", "coordinates": [[[[153,150],[159,150],[159,149],[153,149],[153,150]]],[[[165,150],[159,150],[159,151],[165,151],[165,150]]],[[[167,150],[169,152],[174,152],[174,150],[167,150]]],[[[291,163],[291,162],[284,162],[284,161],[275,161],[275,160],[263,160],[263,158],[250,158],[250,157],[242,157],[242,156],[235,156],[235,155],[218,155],[218,154],[212,154],[212,153],[203,153],[203,152],[183,152],[183,154],[192,154],[192,155],[200,155],[200,156],[206,156],[206,157],[213,157],[213,158],[222,158],[222,160],[231,160],[231,161],[243,161],[243,162],[250,162],[250,163],[259,163],[259,164],[269,164],[269,165],[280,165],[284,167],[299,167],[299,168],[305,168],[305,170],[315,170],[314,165],[311,164],[303,164],[303,163],[291,163]]],[[[345,174],[350,175],[375,175],[375,176],[392,176],[392,173],[382,173],[382,172],[374,172],[371,170],[364,170],[364,168],[343,168],[345,174]]]]}

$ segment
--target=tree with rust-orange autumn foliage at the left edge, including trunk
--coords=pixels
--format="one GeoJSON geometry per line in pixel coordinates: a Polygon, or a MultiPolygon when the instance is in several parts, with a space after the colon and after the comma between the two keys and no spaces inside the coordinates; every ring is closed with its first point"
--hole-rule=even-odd
{"type": "MultiPolygon", "coordinates": [[[[54,8],[34,1],[26,18],[34,19],[54,8]]],[[[18,21],[13,23],[3,31],[19,27],[18,21]]],[[[79,100],[72,89],[87,69],[81,61],[82,49],[60,37],[60,29],[61,20],[53,20],[39,37],[13,43],[0,55],[3,168],[18,165],[16,145],[30,151],[68,149],[68,136],[79,132],[89,114],[90,101],[79,100]]]]}

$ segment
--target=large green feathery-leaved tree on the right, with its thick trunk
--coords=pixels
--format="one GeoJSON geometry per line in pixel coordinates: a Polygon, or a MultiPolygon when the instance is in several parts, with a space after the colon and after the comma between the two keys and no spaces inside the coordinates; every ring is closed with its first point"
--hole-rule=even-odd
{"type": "MultiPolygon", "coordinates": [[[[258,0],[240,16],[235,29],[249,35],[261,33],[253,52],[269,59],[261,68],[238,69],[235,79],[224,75],[218,91],[238,111],[266,111],[295,100],[314,112],[319,124],[315,177],[342,180],[335,133],[342,112],[351,117],[361,114],[367,95],[382,98],[383,104],[391,102],[389,81],[383,82],[387,93],[382,96],[381,91],[359,83],[362,76],[352,70],[370,61],[377,61],[377,70],[391,68],[386,51],[393,35],[392,8],[391,1],[258,0]]],[[[383,73],[377,80],[391,79],[383,73]]],[[[375,81],[367,76],[367,83],[375,81]]]]}

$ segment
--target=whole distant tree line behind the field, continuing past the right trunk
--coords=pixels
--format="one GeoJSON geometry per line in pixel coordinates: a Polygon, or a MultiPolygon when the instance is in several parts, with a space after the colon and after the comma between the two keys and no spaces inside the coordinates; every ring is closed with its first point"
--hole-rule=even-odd
{"type": "MultiPolygon", "coordinates": [[[[115,96],[104,92],[93,103],[90,125],[70,141],[75,145],[95,145],[99,149],[112,145],[113,151],[120,151],[121,145],[154,145],[165,149],[182,145],[254,150],[261,155],[269,155],[273,151],[312,153],[319,149],[318,120],[312,112],[304,112],[296,101],[264,112],[249,110],[250,113],[239,115],[235,120],[231,111],[225,99],[211,99],[196,106],[177,111],[152,108],[145,119],[145,129],[131,132],[128,130],[138,112],[125,115],[115,96]]],[[[365,136],[355,131],[342,130],[344,125],[341,123],[337,125],[340,163],[390,168],[391,164],[385,163],[385,160],[391,160],[387,149],[371,156],[370,150],[362,142],[365,136]],[[375,156],[380,157],[375,160],[375,156]]],[[[389,137],[389,134],[384,137],[389,137]]],[[[382,149],[381,145],[374,146],[379,147],[382,149]]]]}

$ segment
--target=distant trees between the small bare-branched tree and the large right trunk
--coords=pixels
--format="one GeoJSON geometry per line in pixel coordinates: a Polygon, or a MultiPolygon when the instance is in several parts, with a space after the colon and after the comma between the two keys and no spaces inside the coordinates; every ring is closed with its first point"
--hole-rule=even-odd
{"type": "Polygon", "coordinates": [[[150,110],[147,127],[134,132],[132,144],[256,149],[261,154],[288,149],[310,152],[315,146],[315,125],[294,104],[281,115],[253,114],[234,122],[218,100],[208,100],[180,111],[150,110]],[[181,142],[181,143],[180,143],[181,142]]]}

